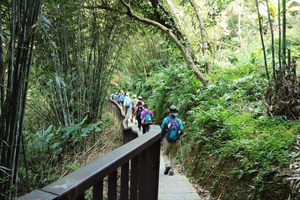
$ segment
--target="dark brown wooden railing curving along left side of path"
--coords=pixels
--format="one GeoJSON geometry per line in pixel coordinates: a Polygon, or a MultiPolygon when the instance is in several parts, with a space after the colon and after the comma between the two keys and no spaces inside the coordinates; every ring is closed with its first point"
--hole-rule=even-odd
{"type": "Polygon", "coordinates": [[[109,200],[157,199],[160,129],[150,129],[147,134],[137,137],[137,132],[128,127],[128,118],[122,108],[111,100],[107,105],[108,110],[122,121],[124,145],[42,189],[19,197],[19,200],[83,200],[85,191],[91,187],[93,199],[103,199],[103,179],[107,176],[109,200]],[[119,169],[121,183],[118,190],[119,169]]]}

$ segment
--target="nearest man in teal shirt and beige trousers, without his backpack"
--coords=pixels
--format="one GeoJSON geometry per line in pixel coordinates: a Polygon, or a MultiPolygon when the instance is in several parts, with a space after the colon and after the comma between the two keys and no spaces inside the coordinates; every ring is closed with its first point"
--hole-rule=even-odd
{"type": "Polygon", "coordinates": [[[182,121],[178,118],[176,118],[176,116],[179,114],[179,111],[177,110],[177,108],[175,106],[170,106],[170,108],[167,109],[167,112],[169,113],[169,116],[164,118],[163,123],[161,124],[161,144],[162,144],[162,140],[164,138],[164,144],[163,144],[163,157],[164,157],[164,162],[165,162],[165,172],[164,174],[167,175],[169,174],[170,176],[174,175],[174,169],[175,169],[175,157],[176,157],[176,153],[179,147],[179,140],[177,141],[167,141],[167,139],[164,137],[166,132],[168,132],[169,128],[169,124],[172,122],[178,123],[178,127],[179,127],[179,135],[183,134],[183,126],[182,126],[182,121]],[[169,118],[169,119],[168,119],[169,118]],[[170,121],[170,119],[172,121],[170,121]],[[170,154],[170,158],[169,158],[169,154],[170,154]],[[170,171],[170,173],[169,173],[170,171]]]}

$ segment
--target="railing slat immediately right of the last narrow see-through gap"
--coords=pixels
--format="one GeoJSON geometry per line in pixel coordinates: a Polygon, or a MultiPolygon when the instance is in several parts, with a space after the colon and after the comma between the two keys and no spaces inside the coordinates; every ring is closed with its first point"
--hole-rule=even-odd
{"type": "Polygon", "coordinates": [[[137,189],[139,186],[138,172],[139,172],[139,155],[137,155],[133,159],[131,159],[130,199],[137,199],[137,189]]]}

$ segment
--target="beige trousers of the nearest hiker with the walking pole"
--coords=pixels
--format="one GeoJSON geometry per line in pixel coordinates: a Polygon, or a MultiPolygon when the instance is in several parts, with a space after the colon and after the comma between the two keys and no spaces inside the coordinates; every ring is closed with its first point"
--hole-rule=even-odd
{"type": "Polygon", "coordinates": [[[179,147],[179,141],[177,142],[168,142],[166,138],[164,138],[163,144],[163,157],[165,161],[165,166],[170,165],[170,172],[173,172],[175,169],[175,157],[179,147]],[[169,158],[170,153],[170,158],[169,158]]]}

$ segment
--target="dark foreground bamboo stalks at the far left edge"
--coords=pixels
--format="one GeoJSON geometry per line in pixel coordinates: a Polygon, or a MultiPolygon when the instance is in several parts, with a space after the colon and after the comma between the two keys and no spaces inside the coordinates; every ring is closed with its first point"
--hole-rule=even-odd
{"type": "Polygon", "coordinates": [[[0,152],[2,198],[16,195],[17,170],[32,66],[35,31],[42,1],[13,0],[0,14],[0,152]]]}

